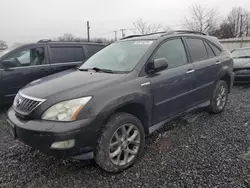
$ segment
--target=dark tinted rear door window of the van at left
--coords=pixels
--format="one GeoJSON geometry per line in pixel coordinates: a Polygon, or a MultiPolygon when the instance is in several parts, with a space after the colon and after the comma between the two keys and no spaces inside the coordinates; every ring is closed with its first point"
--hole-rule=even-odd
{"type": "Polygon", "coordinates": [[[79,62],[86,59],[81,46],[76,47],[50,47],[51,63],[79,62]]]}

